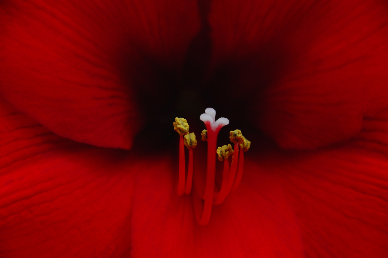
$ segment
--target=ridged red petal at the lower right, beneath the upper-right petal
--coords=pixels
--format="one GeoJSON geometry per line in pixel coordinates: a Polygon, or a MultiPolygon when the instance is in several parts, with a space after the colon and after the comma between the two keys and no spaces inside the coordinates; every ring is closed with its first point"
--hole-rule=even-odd
{"type": "Polygon", "coordinates": [[[388,256],[388,112],[364,120],[346,147],[272,156],[311,258],[388,256]]]}

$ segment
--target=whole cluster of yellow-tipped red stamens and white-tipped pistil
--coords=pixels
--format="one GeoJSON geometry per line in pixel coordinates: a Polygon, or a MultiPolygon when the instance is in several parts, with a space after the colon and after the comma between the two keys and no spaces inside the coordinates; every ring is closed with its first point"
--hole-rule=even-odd
{"type": "MultiPolygon", "coordinates": [[[[244,152],[251,146],[251,142],[242,136],[240,130],[230,131],[230,141],[234,144],[224,145],[217,148],[218,132],[223,126],[229,124],[229,120],[221,117],[215,120],[216,111],[213,108],[206,108],[199,119],[205,124],[206,130],[201,133],[202,140],[208,142],[208,155],[206,165],[206,180],[204,193],[199,189],[194,191],[194,210],[199,225],[206,225],[210,220],[211,209],[213,205],[220,205],[230,191],[237,190],[244,166],[244,152]],[[242,149],[243,151],[240,151],[242,149]],[[215,192],[215,172],[216,172],[216,155],[218,160],[223,161],[222,185],[219,192],[215,192]],[[232,164],[229,169],[229,156],[232,156],[232,164]],[[238,169],[237,169],[238,164],[238,169]],[[236,174],[237,171],[237,174],[236,174]]],[[[178,196],[190,194],[192,188],[193,176],[193,148],[197,145],[194,132],[189,133],[189,124],[184,118],[175,118],[173,123],[174,130],[180,135],[179,143],[179,176],[178,176],[178,196]],[[187,181],[185,182],[185,150],[184,146],[189,149],[189,165],[187,169],[187,181]]]]}

